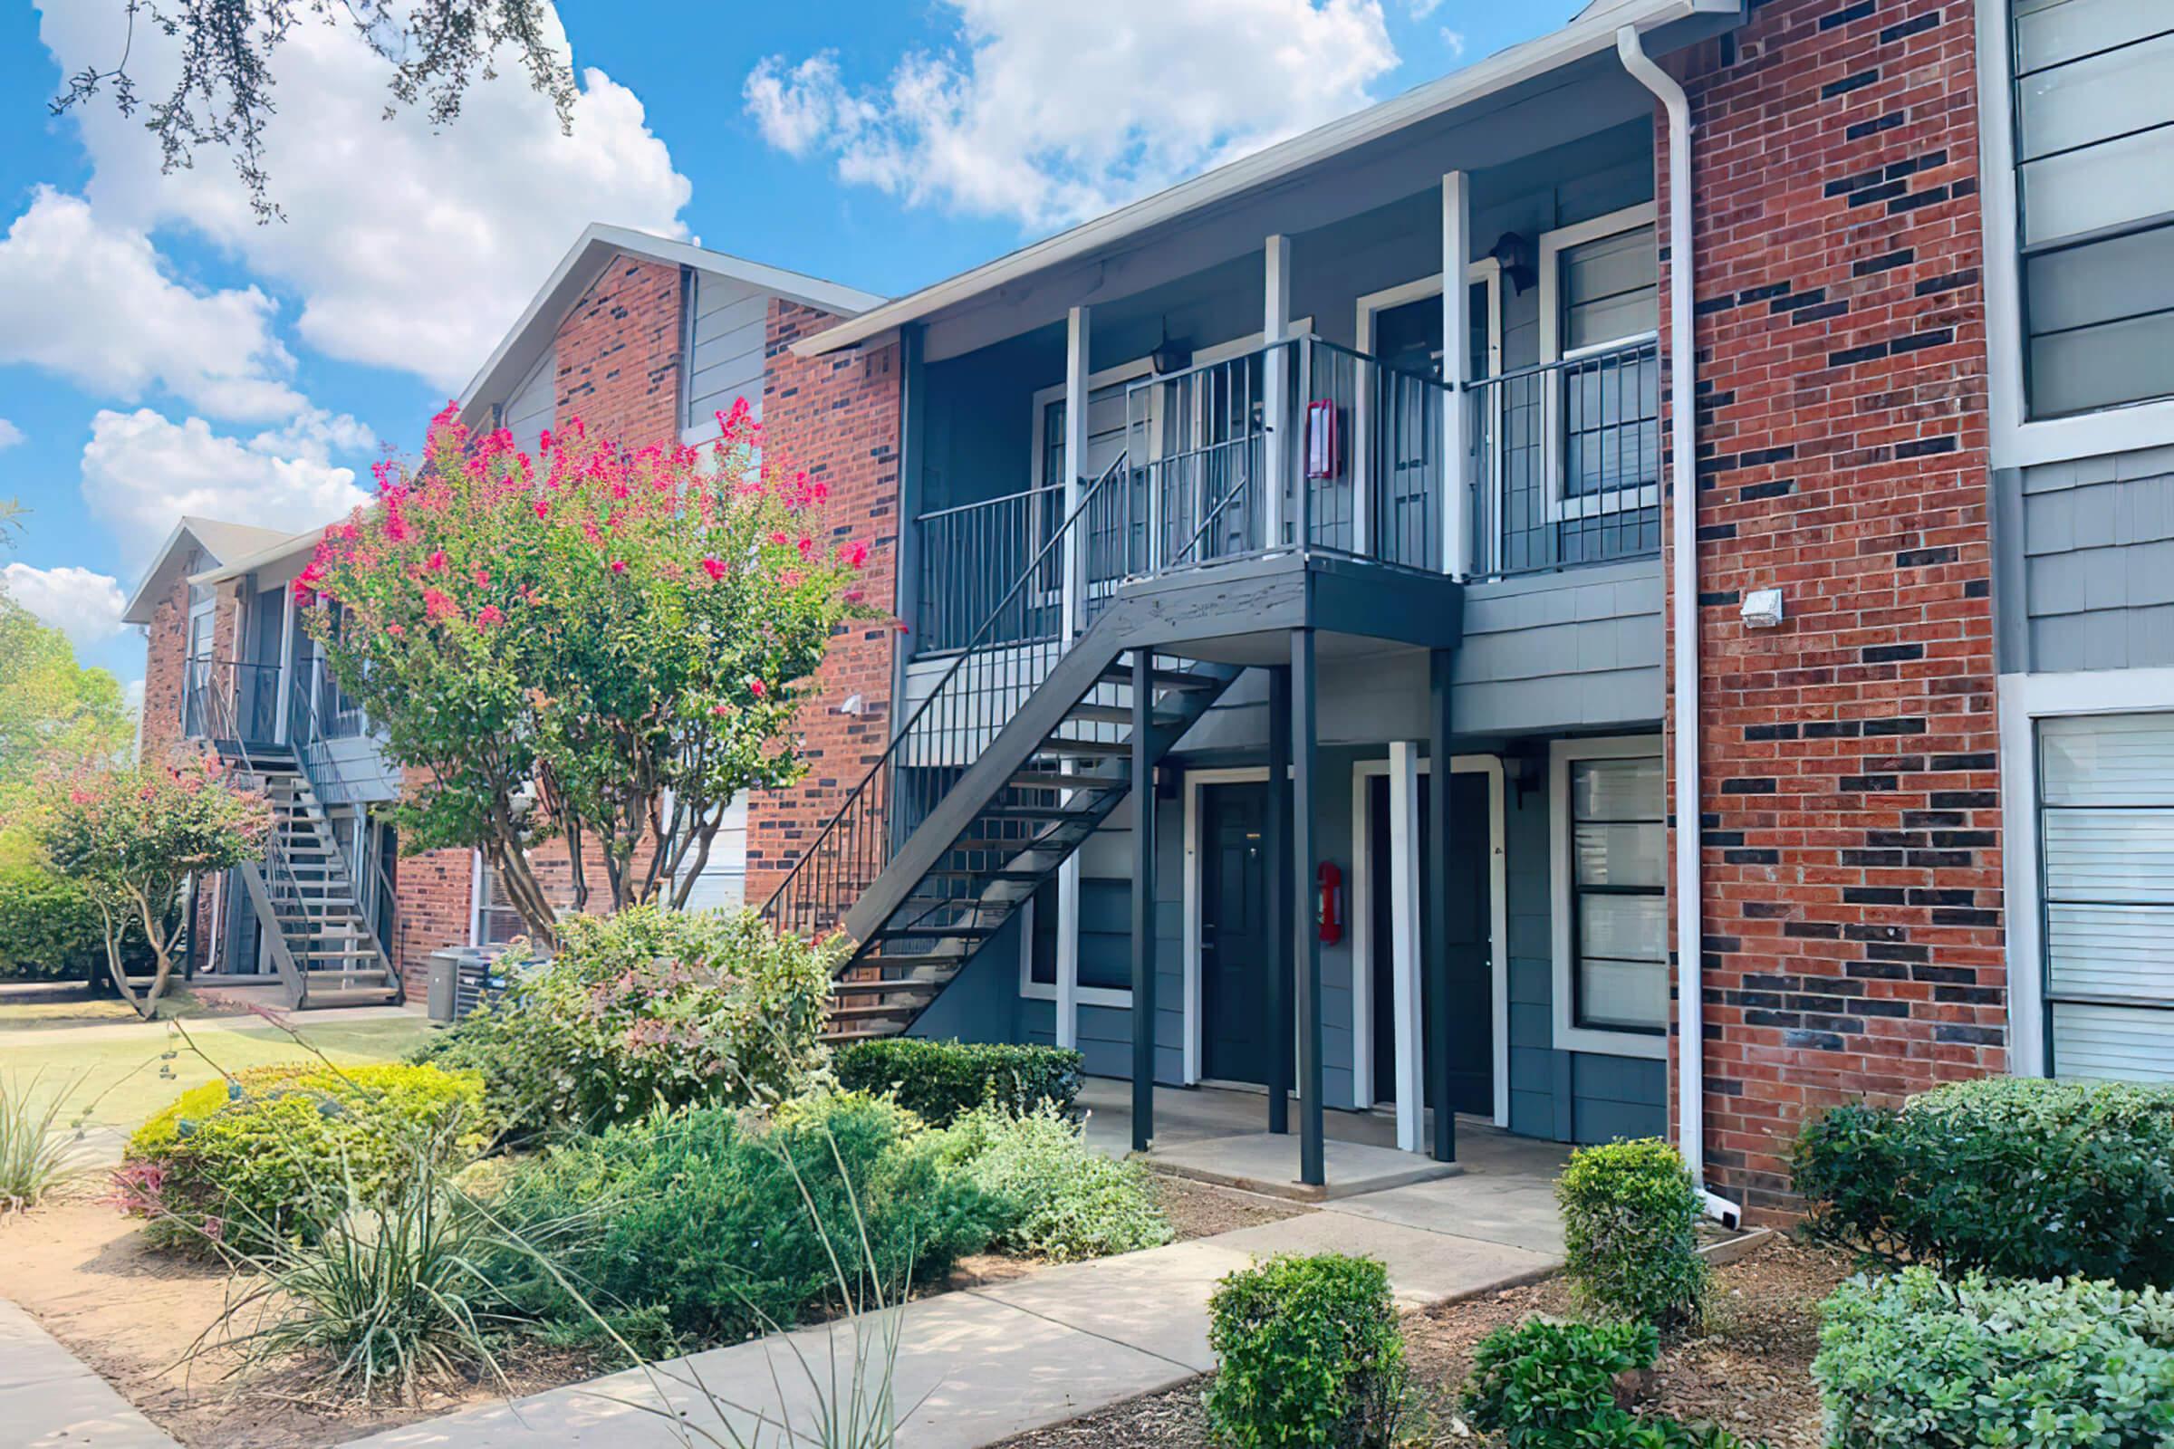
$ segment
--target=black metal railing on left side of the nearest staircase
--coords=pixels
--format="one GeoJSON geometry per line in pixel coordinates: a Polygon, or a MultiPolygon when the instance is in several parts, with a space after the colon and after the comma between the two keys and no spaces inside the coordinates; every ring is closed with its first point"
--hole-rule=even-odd
{"type": "Polygon", "coordinates": [[[1048,578],[1050,563],[1063,558],[1065,541],[1080,528],[1096,497],[1122,487],[1124,476],[1126,458],[1117,454],[1080,493],[1063,524],[1050,530],[944,678],[772,891],[763,904],[763,917],[772,925],[815,936],[844,921],[846,910],[889,865],[898,843],[1072,650],[1061,628],[1028,630],[1022,615],[1046,610],[1039,584],[1048,578]]]}

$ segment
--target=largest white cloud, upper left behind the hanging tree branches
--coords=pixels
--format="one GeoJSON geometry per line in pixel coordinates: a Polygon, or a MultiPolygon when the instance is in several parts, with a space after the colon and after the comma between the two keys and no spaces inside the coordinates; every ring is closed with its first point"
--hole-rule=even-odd
{"type": "MultiPolygon", "coordinates": [[[[63,74],[111,65],[124,11],[48,2],[39,35],[63,74]]],[[[546,22],[563,48],[557,15],[546,22]]],[[[148,30],[137,26],[130,67],[139,93],[154,98],[174,76],[174,46],[148,30]]],[[[685,232],[687,178],[648,130],[641,100],[600,70],[583,72],[572,135],[511,56],[433,133],[411,109],[383,119],[389,70],[346,20],[309,15],[276,54],[265,169],[285,222],[257,224],[224,152],[207,148],[193,167],[161,176],[141,115],[124,119],[100,100],[76,122],[100,217],[146,230],[178,224],[230,248],[300,295],[296,328],[315,350],[452,393],[585,224],[685,232]]]]}

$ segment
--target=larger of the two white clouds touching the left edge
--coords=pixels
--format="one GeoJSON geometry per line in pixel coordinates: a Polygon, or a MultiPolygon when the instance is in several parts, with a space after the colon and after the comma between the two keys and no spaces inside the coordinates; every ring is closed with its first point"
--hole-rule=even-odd
{"type": "Polygon", "coordinates": [[[161,387],[213,417],[287,417],[302,398],[276,311],[257,287],[185,287],[143,232],[52,187],[0,237],[0,363],[128,402],[161,387]]]}

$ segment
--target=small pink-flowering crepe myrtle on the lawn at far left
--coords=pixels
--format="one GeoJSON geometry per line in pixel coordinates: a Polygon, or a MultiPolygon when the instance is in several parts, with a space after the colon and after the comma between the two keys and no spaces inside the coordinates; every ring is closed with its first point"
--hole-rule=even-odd
{"type": "Polygon", "coordinates": [[[139,1015],[157,1012],[189,925],[187,886],[263,856],[272,806],[237,789],[215,756],[87,769],[35,819],[54,869],[85,886],[104,921],[107,969],[139,1015]],[[143,932],[150,984],[137,995],[122,941],[143,932]]]}

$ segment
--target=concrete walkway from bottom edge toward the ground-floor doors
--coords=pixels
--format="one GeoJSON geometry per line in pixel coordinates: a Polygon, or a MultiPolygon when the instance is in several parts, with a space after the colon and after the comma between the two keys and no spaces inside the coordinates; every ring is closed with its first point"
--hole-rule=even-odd
{"type": "MultiPolygon", "coordinates": [[[[1224,1093],[1228,1095],[1228,1093],[1224,1093]]],[[[1209,1117],[1233,1104],[1191,1097],[1209,1117]]],[[[1244,1104],[1235,1104],[1244,1108],[1244,1104]]],[[[1259,1097],[1254,1097],[1254,1108],[1259,1097]]],[[[1176,1119],[1172,1117],[1176,1130],[1176,1119]]],[[[1291,1147],[1296,1164],[1296,1143],[1291,1147]]],[[[1550,1184],[1561,1149],[1491,1130],[1463,1134],[1454,1177],[1367,1193],[1259,1227],[1122,1258],[1044,1269],[946,1293],[898,1314],[894,1395],[900,1449],[976,1449],[1215,1366],[1209,1295],[1267,1253],[1344,1251],[1380,1258],[1404,1308],[1487,1293],[1552,1271],[1561,1227],[1550,1184]]],[[[872,1332],[874,1336],[874,1332],[872,1332]]],[[[880,1343],[867,1345],[880,1358],[880,1343]]],[[[663,1449],[689,1442],[657,1412],[670,1403],[694,1442],[726,1429],[763,1445],[780,1421],[807,1432],[817,1395],[809,1373],[850,1382],[850,1327],[809,1327],[594,1384],[470,1410],[359,1440],[354,1449],[663,1449]],[[835,1356],[835,1371],[833,1371],[835,1356]],[[733,1408],[722,1414],[696,1388],[733,1408]],[[783,1403],[783,1408],[780,1408],[783,1403]]]]}

